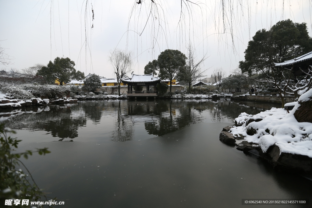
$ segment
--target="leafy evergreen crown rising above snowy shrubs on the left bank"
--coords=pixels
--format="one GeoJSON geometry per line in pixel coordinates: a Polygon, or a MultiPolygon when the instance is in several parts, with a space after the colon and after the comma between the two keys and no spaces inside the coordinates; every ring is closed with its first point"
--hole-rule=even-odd
{"type": "Polygon", "coordinates": [[[70,58],[56,57],[53,63],[49,61],[47,66],[43,66],[38,70],[37,75],[44,77],[48,83],[54,83],[54,80],[57,80],[60,82],[60,85],[71,80],[80,81],[85,79],[85,74],[81,71],[76,71],[74,66],[75,62],[70,60],[70,58]]]}

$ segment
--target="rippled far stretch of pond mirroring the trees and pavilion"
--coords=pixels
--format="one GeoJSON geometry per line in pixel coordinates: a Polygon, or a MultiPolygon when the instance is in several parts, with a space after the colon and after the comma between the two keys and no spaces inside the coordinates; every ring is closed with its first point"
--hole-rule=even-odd
{"type": "MultiPolygon", "coordinates": [[[[231,100],[157,100],[154,102],[96,100],[0,111],[0,121],[13,129],[42,130],[80,141],[98,134],[102,139],[125,142],[162,136],[201,122],[233,122],[241,112],[257,114],[278,104],[236,103],[231,100]],[[87,124],[91,121],[90,124],[87,124]],[[94,128],[99,127],[99,128],[94,128]],[[80,131],[81,129],[81,131],[80,131]],[[103,136],[107,135],[107,136],[103,136]]],[[[39,141],[39,140],[38,140],[39,141]]],[[[76,141],[76,140],[75,140],[76,141]]]]}

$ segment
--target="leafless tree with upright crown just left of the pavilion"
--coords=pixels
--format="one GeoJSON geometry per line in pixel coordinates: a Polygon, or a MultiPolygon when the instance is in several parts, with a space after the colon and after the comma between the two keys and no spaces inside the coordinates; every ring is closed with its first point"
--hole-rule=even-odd
{"type": "Polygon", "coordinates": [[[118,84],[118,95],[120,96],[121,78],[130,71],[130,67],[132,65],[131,52],[115,49],[110,52],[109,60],[114,67],[114,73],[118,84]]]}

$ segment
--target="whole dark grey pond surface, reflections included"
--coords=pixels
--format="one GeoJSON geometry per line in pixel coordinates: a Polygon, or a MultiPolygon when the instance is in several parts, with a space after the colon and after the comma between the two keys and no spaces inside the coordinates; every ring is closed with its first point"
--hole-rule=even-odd
{"type": "Polygon", "coordinates": [[[0,122],[17,130],[18,151],[49,148],[50,154],[23,161],[47,196],[65,201],[59,207],[241,207],[242,199],[311,199],[308,179],[219,141],[241,112],[271,107],[280,105],[80,101],[1,111],[0,122]]]}

